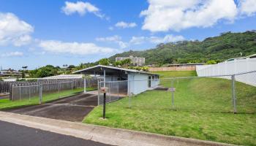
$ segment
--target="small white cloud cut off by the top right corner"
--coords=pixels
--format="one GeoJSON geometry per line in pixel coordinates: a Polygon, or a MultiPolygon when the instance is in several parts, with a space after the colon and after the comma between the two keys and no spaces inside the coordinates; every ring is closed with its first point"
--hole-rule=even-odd
{"type": "Polygon", "coordinates": [[[241,0],[240,10],[242,15],[254,15],[256,12],[256,1],[255,0],[241,0]]]}

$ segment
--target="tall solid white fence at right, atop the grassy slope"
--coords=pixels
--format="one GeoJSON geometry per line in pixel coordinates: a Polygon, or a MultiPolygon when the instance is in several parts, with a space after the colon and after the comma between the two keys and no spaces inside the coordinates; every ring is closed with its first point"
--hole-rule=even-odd
{"type": "MultiPolygon", "coordinates": [[[[256,58],[235,59],[214,65],[196,66],[198,77],[219,76],[239,74],[243,72],[256,71],[256,58]]],[[[230,77],[221,77],[230,79],[230,77]]],[[[256,86],[256,72],[251,74],[240,74],[236,77],[239,82],[256,86]]]]}

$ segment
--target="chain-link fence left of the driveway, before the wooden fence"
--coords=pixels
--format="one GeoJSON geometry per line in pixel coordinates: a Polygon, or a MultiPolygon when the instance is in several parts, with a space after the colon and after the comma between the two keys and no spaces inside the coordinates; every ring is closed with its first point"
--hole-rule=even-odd
{"type": "Polygon", "coordinates": [[[61,96],[81,92],[84,87],[97,88],[97,79],[48,80],[12,84],[10,100],[39,100],[39,103],[41,103],[43,97],[60,98],[61,96]]]}

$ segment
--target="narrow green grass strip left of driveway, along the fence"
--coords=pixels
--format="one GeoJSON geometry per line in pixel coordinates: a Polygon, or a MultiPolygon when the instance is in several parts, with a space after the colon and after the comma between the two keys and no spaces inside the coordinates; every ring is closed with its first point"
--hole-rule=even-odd
{"type": "MultiPolygon", "coordinates": [[[[86,90],[91,91],[91,90],[94,90],[94,88],[86,88],[86,90]]],[[[42,103],[59,99],[59,98],[64,98],[67,96],[72,96],[82,91],[83,91],[83,88],[76,88],[73,90],[61,91],[60,93],[59,92],[43,93],[42,103]]],[[[0,99],[0,110],[10,109],[15,107],[23,107],[23,106],[34,105],[34,104],[39,104],[39,96],[31,97],[30,100],[29,98],[26,98],[18,101],[10,101],[10,99],[0,99]]]]}

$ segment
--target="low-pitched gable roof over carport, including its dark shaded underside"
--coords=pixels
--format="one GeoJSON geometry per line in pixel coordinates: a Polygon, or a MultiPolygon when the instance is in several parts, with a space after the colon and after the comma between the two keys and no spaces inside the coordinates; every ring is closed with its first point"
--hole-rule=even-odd
{"type": "Polygon", "coordinates": [[[94,74],[94,72],[102,72],[102,70],[104,70],[106,72],[114,72],[114,71],[123,71],[123,72],[133,72],[133,73],[138,73],[138,74],[152,74],[152,75],[159,75],[159,74],[153,74],[150,72],[142,72],[142,71],[138,71],[135,69],[124,69],[124,68],[119,68],[119,67],[114,67],[114,66],[103,66],[103,65],[97,65],[97,66],[91,66],[89,68],[86,69],[81,69],[78,71],[73,72],[73,74],[83,74],[83,73],[88,73],[88,74],[94,74]]]}

